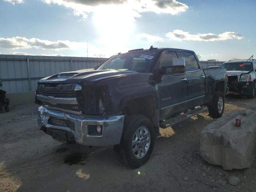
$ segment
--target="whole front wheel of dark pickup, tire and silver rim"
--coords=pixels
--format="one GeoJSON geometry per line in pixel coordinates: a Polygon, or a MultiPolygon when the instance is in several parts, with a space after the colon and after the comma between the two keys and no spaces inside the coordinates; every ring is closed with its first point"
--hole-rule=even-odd
{"type": "Polygon", "coordinates": [[[150,158],[154,140],[154,127],[148,117],[127,116],[124,120],[121,142],[114,146],[119,162],[130,168],[142,166],[150,158]]]}

